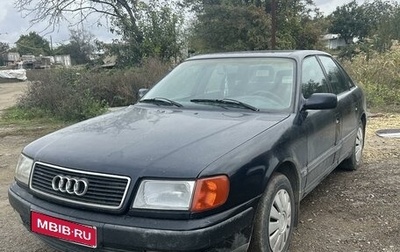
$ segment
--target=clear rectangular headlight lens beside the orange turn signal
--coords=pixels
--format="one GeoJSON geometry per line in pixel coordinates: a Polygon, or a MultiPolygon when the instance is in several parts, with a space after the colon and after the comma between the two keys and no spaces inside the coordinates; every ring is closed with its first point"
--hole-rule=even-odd
{"type": "Polygon", "coordinates": [[[194,184],[194,181],[143,180],[133,208],[188,210],[194,184]]]}

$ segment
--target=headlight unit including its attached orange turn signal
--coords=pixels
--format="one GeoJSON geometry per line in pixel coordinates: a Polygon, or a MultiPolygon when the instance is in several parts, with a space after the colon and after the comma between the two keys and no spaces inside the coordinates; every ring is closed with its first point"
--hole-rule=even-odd
{"type": "Polygon", "coordinates": [[[203,212],[223,205],[229,195],[227,176],[197,181],[143,180],[133,208],[203,212]]]}

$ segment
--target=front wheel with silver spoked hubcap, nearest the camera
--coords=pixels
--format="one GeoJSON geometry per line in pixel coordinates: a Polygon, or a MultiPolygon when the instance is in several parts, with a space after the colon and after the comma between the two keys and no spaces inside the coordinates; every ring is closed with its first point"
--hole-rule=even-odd
{"type": "Polygon", "coordinates": [[[284,252],[294,229],[295,202],[289,179],[276,173],[260,199],[248,252],[284,252]]]}

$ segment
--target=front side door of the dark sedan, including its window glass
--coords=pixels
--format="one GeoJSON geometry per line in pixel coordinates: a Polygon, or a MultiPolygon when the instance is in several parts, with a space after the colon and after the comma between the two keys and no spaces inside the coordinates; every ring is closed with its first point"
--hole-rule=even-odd
{"type": "MultiPolygon", "coordinates": [[[[330,89],[316,57],[304,59],[302,64],[302,93],[307,99],[313,93],[329,93],[330,89]]],[[[307,134],[308,193],[335,167],[337,143],[340,137],[341,115],[337,109],[310,110],[303,122],[307,134]]]]}

